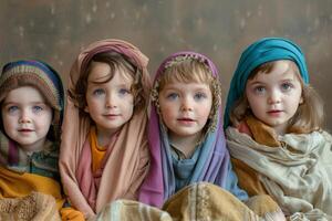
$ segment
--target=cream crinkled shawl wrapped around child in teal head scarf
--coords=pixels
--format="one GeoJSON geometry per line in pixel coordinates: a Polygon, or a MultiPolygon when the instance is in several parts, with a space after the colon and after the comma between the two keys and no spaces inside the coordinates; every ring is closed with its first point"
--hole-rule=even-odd
{"type": "Polygon", "coordinates": [[[282,146],[269,147],[234,127],[226,133],[231,156],[260,173],[267,191],[287,215],[301,220],[332,215],[331,135],[287,134],[278,138],[282,146]]]}

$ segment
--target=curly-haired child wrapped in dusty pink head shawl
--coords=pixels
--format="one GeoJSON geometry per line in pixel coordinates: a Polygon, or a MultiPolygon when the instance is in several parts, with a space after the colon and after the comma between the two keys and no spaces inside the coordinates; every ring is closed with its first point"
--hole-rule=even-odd
{"type": "Polygon", "coordinates": [[[72,66],[60,170],[70,203],[85,218],[113,200],[136,199],[147,172],[147,63],[134,45],[104,40],[72,66]]]}

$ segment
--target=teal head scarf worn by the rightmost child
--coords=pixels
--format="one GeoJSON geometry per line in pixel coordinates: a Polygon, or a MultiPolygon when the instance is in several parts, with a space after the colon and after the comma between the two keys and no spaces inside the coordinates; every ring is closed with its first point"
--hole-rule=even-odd
{"type": "Polygon", "coordinates": [[[264,38],[249,45],[241,54],[237,70],[230,82],[228,92],[225,124],[224,127],[230,125],[229,114],[232,105],[245,93],[246,83],[251,72],[263,63],[277,60],[291,60],[299,70],[305,84],[309,83],[309,73],[307,70],[304,54],[300,46],[294,42],[282,38],[264,38]]]}

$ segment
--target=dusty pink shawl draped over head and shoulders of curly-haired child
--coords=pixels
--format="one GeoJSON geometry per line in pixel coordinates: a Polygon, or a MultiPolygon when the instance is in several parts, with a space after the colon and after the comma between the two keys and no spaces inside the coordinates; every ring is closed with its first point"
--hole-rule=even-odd
{"type": "MultiPolygon", "coordinates": [[[[151,88],[146,69],[148,59],[137,48],[121,40],[98,41],[83,50],[72,66],[69,90],[75,87],[80,73],[86,69],[92,56],[106,51],[116,51],[135,62],[134,65],[143,73],[142,93],[148,96],[151,88]]],[[[122,127],[117,139],[112,144],[112,152],[103,161],[104,170],[96,176],[92,173],[92,169],[83,171],[82,165],[84,164],[80,164],[84,160],[86,164],[90,162],[91,167],[91,160],[85,161],[91,157],[89,156],[91,151],[83,151],[84,146],[90,147],[89,141],[85,141],[91,128],[91,119],[79,116],[79,108],[69,96],[66,97],[59,167],[64,192],[70,203],[82,211],[86,218],[93,217],[113,200],[136,198],[136,191],[149,164],[146,109],[145,107],[141,112],[135,112],[131,120],[122,127]]]]}

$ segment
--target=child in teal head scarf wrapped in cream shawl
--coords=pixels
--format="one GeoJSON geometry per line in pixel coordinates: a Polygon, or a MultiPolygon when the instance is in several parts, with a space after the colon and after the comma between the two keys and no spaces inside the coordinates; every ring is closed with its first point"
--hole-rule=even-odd
{"type": "Polygon", "coordinates": [[[243,51],[225,128],[239,185],[249,196],[270,194],[291,219],[332,214],[332,138],[322,122],[322,101],[295,43],[266,38],[243,51]]]}

